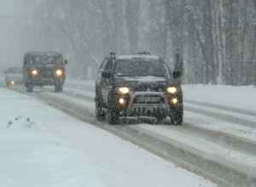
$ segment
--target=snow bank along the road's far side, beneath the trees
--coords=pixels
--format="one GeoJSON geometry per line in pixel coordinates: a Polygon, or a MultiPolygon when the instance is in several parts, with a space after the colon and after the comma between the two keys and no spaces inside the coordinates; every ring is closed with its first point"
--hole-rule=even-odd
{"type": "MultiPolygon", "coordinates": [[[[80,85],[88,88],[95,87],[95,81],[77,81],[67,79],[68,85],[80,85]]],[[[188,84],[182,85],[183,99],[186,101],[200,101],[209,104],[218,104],[235,107],[241,110],[256,111],[256,88],[250,86],[226,86],[226,85],[204,85],[188,84]]],[[[65,85],[64,85],[65,89],[65,85]]],[[[88,91],[82,91],[81,94],[88,91]]]]}

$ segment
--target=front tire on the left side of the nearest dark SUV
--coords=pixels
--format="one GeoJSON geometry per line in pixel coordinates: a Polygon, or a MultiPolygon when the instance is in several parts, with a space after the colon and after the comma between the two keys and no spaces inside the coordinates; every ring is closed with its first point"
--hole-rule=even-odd
{"type": "Polygon", "coordinates": [[[109,124],[119,124],[119,111],[111,99],[108,99],[107,121],[109,124]]]}

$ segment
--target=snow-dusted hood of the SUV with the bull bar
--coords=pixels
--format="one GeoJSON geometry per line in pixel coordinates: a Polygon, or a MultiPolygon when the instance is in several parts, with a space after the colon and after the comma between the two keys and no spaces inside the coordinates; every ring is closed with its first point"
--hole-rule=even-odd
{"type": "Polygon", "coordinates": [[[167,87],[180,87],[180,80],[171,77],[118,77],[116,87],[130,87],[142,91],[158,91],[167,87]]]}

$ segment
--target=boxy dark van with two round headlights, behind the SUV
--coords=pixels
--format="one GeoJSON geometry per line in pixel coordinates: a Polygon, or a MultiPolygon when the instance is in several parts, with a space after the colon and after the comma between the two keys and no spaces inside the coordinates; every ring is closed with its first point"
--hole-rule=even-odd
{"type": "Polygon", "coordinates": [[[65,82],[67,60],[56,52],[26,53],[23,60],[23,80],[26,91],[32,92],[34,86],[55,86],[55,92],[62,92],[65,82]]]}

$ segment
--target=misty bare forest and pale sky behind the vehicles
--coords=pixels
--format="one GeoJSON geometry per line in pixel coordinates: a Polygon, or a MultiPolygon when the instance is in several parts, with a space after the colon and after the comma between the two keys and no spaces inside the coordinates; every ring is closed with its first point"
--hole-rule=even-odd
{"type": "Polygon", "coordinates": [[[68,77],[93,79],[110,52],[148,51],[171,69],[180,54],[183,83],[255,84],[254,3],[2,0],[1,72],[21,66],[26,52],[56,51],[69,61],[68,77]]]}

